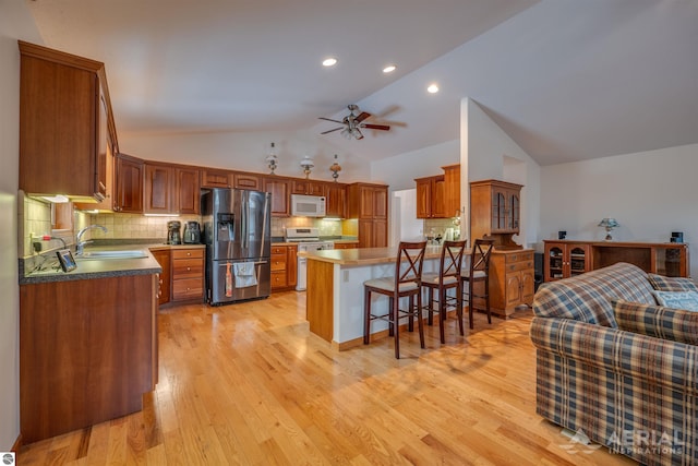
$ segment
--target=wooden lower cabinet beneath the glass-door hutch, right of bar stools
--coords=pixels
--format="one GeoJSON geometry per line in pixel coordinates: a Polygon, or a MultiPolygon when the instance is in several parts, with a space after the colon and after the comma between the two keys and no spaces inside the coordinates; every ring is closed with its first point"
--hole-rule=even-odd
{"type": "Polygon", "coordinates": [[[490,307],[502,316],[531,306],[535,289],[533,250],[495,250],[490,258],[490,307]]]}

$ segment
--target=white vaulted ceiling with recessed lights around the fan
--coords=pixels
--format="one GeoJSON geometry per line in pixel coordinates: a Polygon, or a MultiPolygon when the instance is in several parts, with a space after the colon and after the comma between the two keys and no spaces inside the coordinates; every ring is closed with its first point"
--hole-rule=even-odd
{"type": "Polygon", "coordinates": [[[458,139],[469,97],[541,165],[698,143],[694,0],[27,4],[46,46],[106,63],[120,133],[308,131],[381,158],[458,139]],[[348,104],[390,131],[320,135],[348,104]]]}

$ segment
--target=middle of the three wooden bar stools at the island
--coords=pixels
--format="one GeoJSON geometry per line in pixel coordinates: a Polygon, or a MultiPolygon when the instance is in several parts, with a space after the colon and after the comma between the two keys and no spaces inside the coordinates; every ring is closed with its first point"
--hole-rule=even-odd
{"type": "Polygon", "coordinates": [[[429,324],[433,324],[433,314],[438,314],[438,334],[441,343],[446,343],[444,334],[444,325],[448,311],[456,310],[458,315],[458,326],[460,334],[462,330],[462,290],[461,290],[461,265],[464,251],[466,250],[466,241],[444,241],[441,250],[441,261],[438,263],[437,273],[422,274],[422,287],[429,290],[428,302],[424,309],[429,312],[429,324]],[[455,296],[448,296],[448,290],[455,289],[455,296]],[[434,299],[434,295],[438,299],[434,299]],[[437,303],[437,308],[434,307],[437,303]]]}

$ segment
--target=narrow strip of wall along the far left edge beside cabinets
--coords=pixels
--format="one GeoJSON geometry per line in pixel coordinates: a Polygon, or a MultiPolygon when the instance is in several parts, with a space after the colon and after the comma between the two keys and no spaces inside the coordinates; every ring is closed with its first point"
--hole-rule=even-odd
{"type": "Polygon", "coordinates": [[[0,451],[20,434],[20,288],[17,286],[17,180],[20,50],[17,38],[41,43],[22,0],[0,0],[0,451]]]}

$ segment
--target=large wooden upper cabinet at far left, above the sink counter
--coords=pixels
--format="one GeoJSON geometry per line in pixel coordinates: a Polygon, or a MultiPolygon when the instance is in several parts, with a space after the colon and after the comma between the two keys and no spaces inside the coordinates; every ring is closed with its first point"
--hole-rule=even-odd
{"type": "Polygon", "coordinates": [[[20,189],[87,202],[109,194],[118,153],[104,64],[19,41],[20,189]]]}

